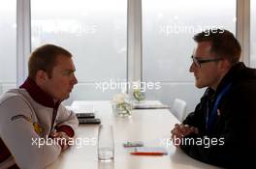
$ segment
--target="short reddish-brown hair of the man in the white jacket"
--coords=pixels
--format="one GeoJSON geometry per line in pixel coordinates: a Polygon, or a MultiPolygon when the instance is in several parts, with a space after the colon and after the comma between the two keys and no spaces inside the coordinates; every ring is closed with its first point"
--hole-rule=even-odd
{"type": "Polygon", "coordinates": [[[54,44],[45,44],[35,49],[28,61],[28,76],[35,80],[37,71],[45,70],[50,78],[59,55],[72,57],[68,50],[54,44]]]}

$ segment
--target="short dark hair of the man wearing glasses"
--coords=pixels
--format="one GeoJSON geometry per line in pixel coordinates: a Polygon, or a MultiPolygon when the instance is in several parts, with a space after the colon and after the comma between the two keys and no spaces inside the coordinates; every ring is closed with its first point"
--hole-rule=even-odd
{"type": "Polygon", "coordinates": [[[225,29],[208,29],[194,36],[195,42],[211,42],[211,52],[225,57],[232,65],[240,61],[240,42],[225,29]]]}

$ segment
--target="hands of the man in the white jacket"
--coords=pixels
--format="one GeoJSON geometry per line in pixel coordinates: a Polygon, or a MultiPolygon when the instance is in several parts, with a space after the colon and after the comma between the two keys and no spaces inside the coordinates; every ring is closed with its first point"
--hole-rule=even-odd
{"type": "Polygon", "coordinates": [[[66,134],[66,132],[51,132],[49,136],[57,141],[58,145],[61,147],[62,152],[69,148],[69,140],[71,138],[66,134]]]}

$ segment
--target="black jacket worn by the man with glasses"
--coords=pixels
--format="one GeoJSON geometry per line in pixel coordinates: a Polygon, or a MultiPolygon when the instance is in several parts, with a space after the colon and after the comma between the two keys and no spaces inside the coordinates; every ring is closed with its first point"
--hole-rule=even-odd
{"type": "Polygon", "coordinates": [[[183,138],[190,139],[190,143],[180,146],[187,155],[226,168],[255,166],[256,70],[246,68],[243,63],[235,65],[221,80],[216,92],[210,88],[206,90],[195,111],[183,124],[199,128],[199,134],[183,138]],[[229,91],[217,105],[211,129],[207,130],[207,114],[230,83],[229,91]]]}

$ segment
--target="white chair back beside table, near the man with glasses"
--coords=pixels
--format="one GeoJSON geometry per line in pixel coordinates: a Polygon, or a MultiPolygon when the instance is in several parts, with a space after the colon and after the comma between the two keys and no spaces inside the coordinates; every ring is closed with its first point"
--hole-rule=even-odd
{"type": "Polygon", "coordinates": [[[176,116],[176,119],[179,122],[182,122],[186,113],[186,101],[182,99],[175,99],[172,106],[172,113],[176,116]]]}

